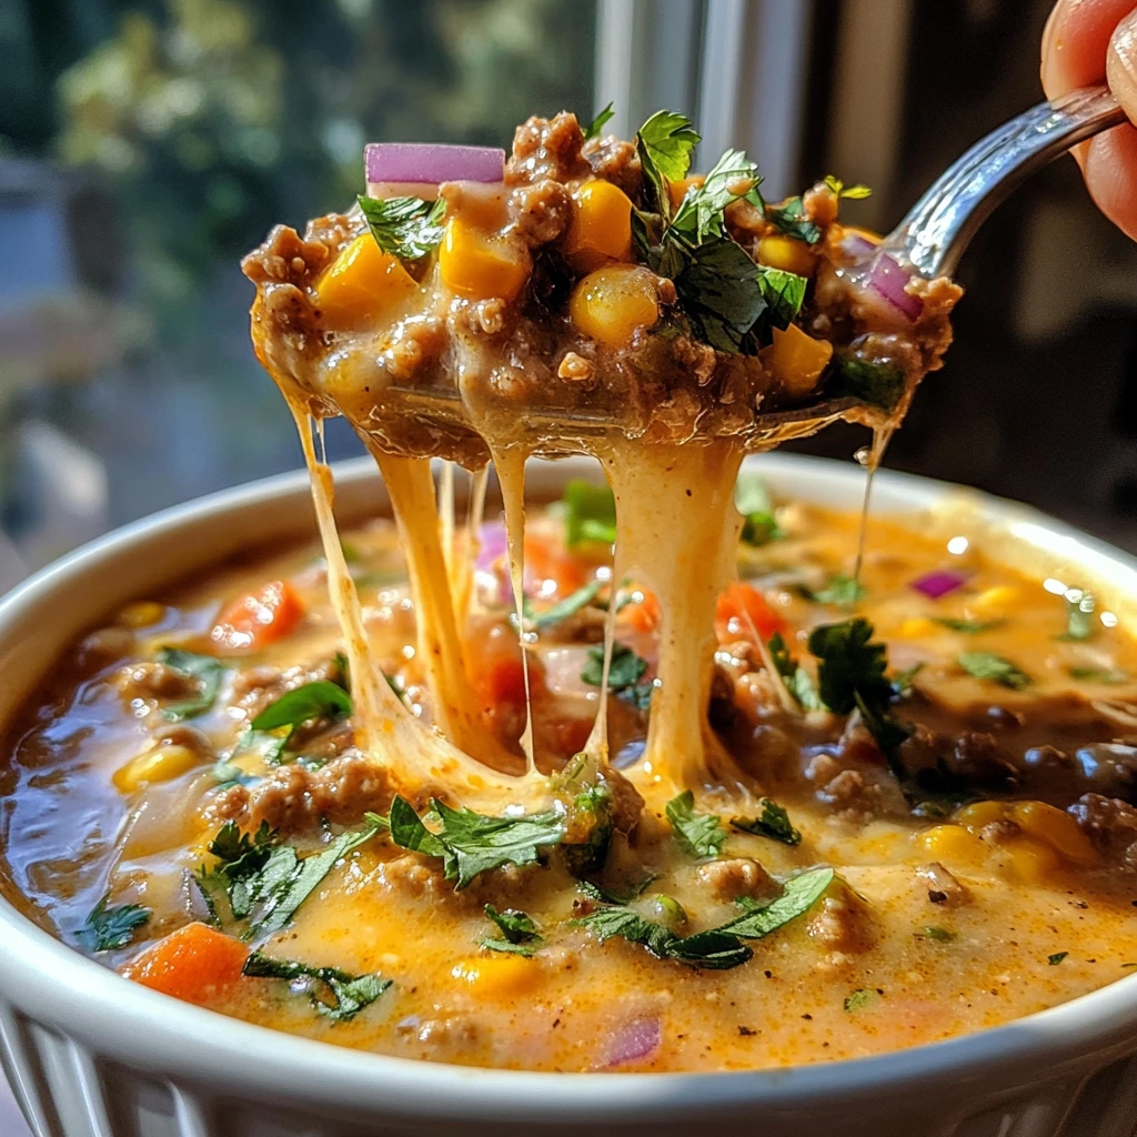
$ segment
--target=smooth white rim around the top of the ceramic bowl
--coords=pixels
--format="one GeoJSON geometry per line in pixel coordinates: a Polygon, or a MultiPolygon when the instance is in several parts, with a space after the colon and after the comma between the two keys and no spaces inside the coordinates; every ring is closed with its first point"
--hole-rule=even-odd
{"type": "MultiPolygon", "coordinates": [[[[762,455],[753,464],[779,482],[807,487],[802,493],[806,499],[811,484],[836,480],[845,483],[847,493],[852,480],[858,485],[863,480],[856,466],[808,456],[762,455]]],[[[573,472],[572,462],[556,466],[573,472]]],[[[367,458],[337,465],[335,476],[341,491],[377,482],[367,458]]],[[[193,522],[219,521],[282,498],[300,498],[307,490],[306,472],[280,474],[174,506],[101,537],[0,599],[0,641],[31,606],[111,557],[168,539],[193,522]]],[[[875,491],[926,508],[961,488],[881,471],[875,491]]],[[[1040,534],[1067,554],[1077,551],[1087,564],[1112,565],[1137,590],[1137,557],[1029,506],[965,492],[985,514],[1011,528],[1026,526],[1028,537],[1040,534]]],[[[1001,1027],[861,1059],[708,1073],[550,1073],[453,1065],[355,1051],[181,1003],[83,956],[0,896],[0,1059],[18,1084],[17,1063],[6,1053],[11,1044],[6,1045],[5,1036],[9,1028],[16,1032],[5,1021],[10,1013],[3,1011],[6,1001],[20,1015],[63,1030],[100,1054],[174,1079],[207,1082],[218,1092],[251,1092],[265,1099],[284,1094],[347,1109],[351,1115],[381,1111],[439,1122],[472,1115],[503,1122],[550,1115],[564,1123],[648,1122],[684,1113],[705,1120],[708,1109],[761,1104],[792,1111],[879,1098],[901,1086],[908,1096],[951,1087],[953,1095],[963,1097],[966,1086],[978,1092],[1048,1081],[1137,1047],[1135,973],[1001,1027]],[[1009,1065],[1015,1071],[1011,1081],[1009,1065]],[[304,1071],[302,1079],[290,1077],[294,1070],[304,1071]]]]}

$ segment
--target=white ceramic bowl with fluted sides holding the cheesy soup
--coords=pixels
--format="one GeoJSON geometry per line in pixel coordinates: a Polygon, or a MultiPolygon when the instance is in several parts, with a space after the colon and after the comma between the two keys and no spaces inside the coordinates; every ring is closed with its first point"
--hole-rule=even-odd
{"type": "MultiPolygon", "coordinates": [[[[779,495],[860,504],[863,474],[770,455],[779,495]]],[[[555,492],[580,464],[534,468],[555,492]]],[[[880,512],[957,488],[883,473],[880,512]]],[[[384,505],[370,464],[338,475],[343,521],[384,505]]],[[[1137,596],[1137,559],[980,497],[1055,571],[1137,596]]],[[[314,533],[307,478],[192,501],[89,545],[0,601],[0,721],[108,611],[255,542],[314,533]]],[[[1132,1137],[1137,976],[1006,1027],[896,1054],[729,1074],[549,1074],[382,1057],[238,1022],[119,979],[0,899],[0,1061],[38,1137],[1132,1137]]],[[[5,1135],[0,1135],[5,1137],[5,1135]]]]}

